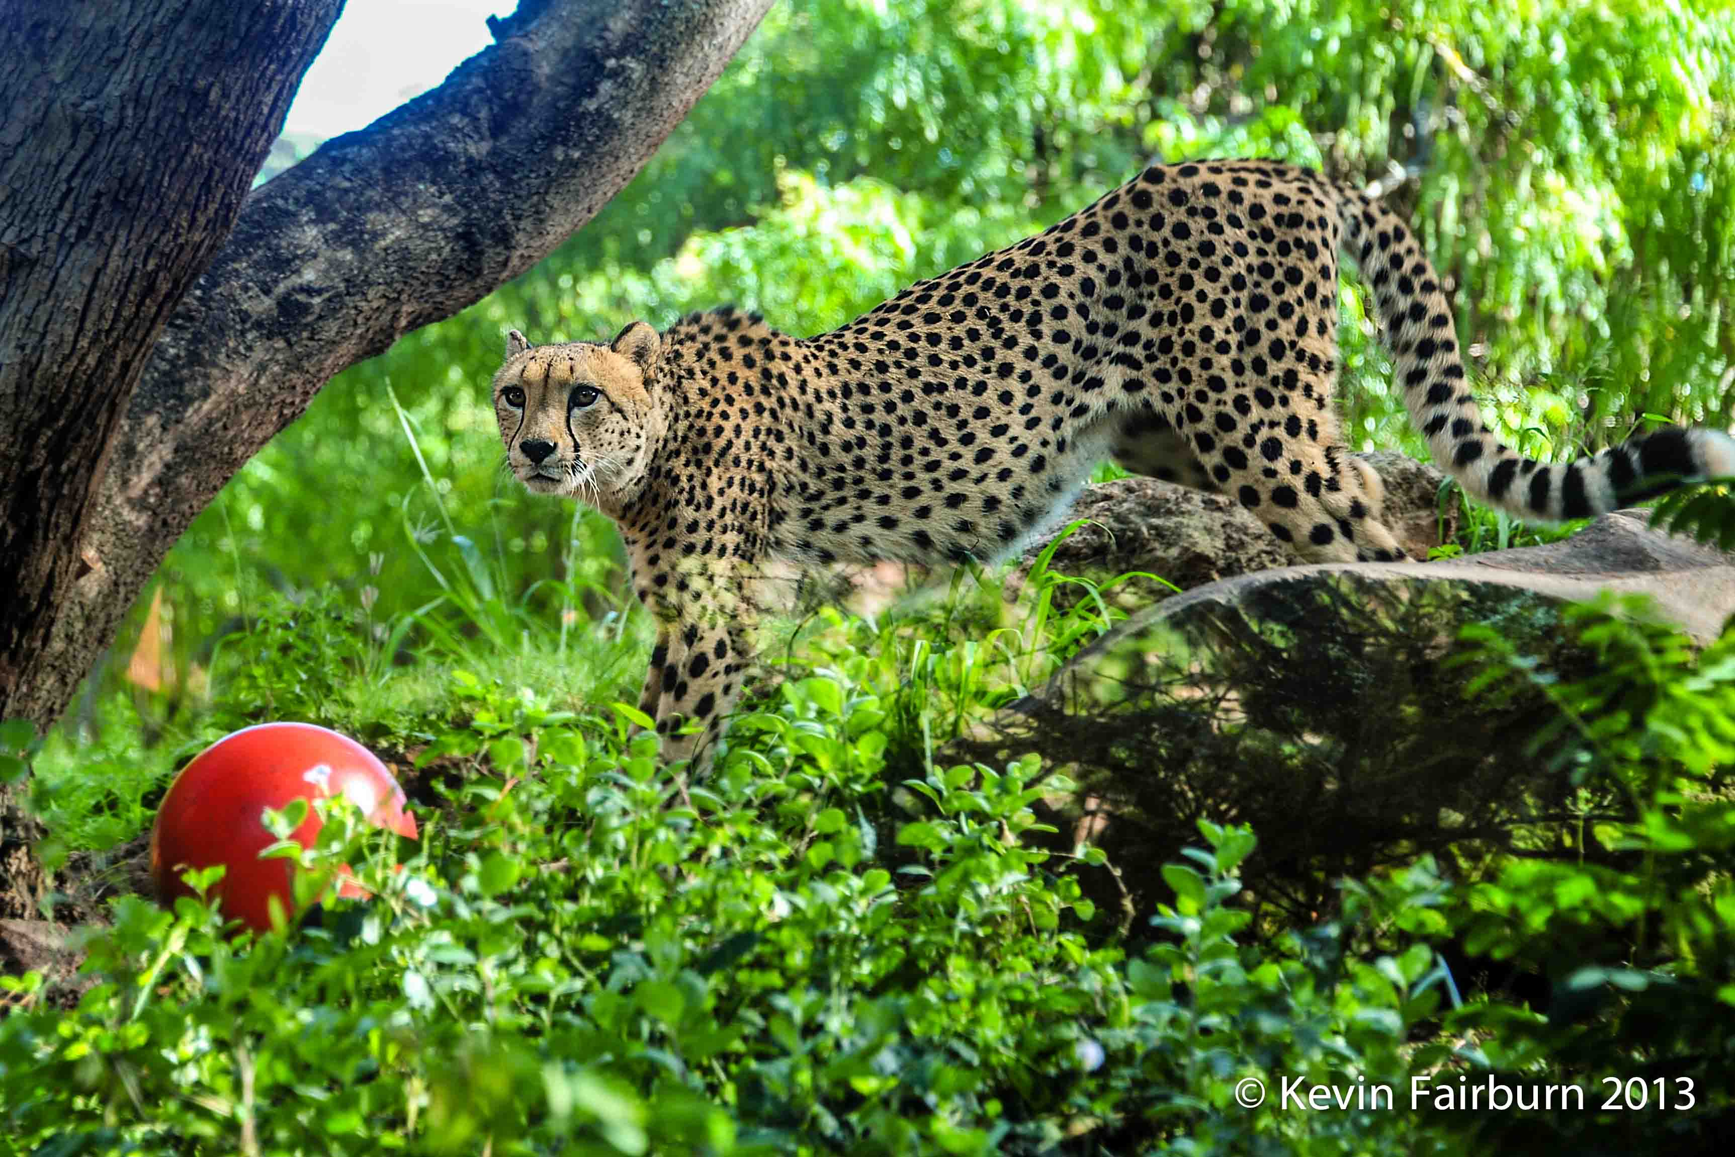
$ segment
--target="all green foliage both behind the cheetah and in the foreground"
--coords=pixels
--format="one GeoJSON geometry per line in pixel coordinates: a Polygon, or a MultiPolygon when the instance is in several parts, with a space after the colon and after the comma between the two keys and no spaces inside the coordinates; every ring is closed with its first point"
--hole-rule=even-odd
{"type": "MultiPolygon", "coordinates": [[[[1473,694],[1555,704],[1534,751],[1574,815],[1346,879],[1294,926],[1249,916],[1253,833],[1206,822],[1154,919],[1098,911],[1083,879],[1114,866],[1039,820],[1064,779],[942,748],[1112,626],[1107,585],[1044,557],[1013,602],[958,572],[873,614],[821,605],[692,784],[632,734],[647,638],[612,527],[500,472],[486,382],[507,326],[588,338],[737,302],[814,333],[1150,156],[1268,154],[1417,167],[1485,413],[1527,453],[1726,420],[1732,36],[1709,3],[776,5],[593,224],[340,375],[231,482],[62,727],[0,727],[0,782],[33,768],[57,869],[137,836],[175,767],[264,718],[370,742],[423,824],[399,845],[338,808],[312,852],[279,847],[309,897],[337,864],[371,897],[260,937],[61,873],[54,900],[109,926],[90,987],[0,978],[0,1148],[1690,1145],[1735,1095],[1728,640],[1586,611],[1579,678],[1475,631],[1473,694]],[[1412,1077],[1457,1074],[1577,1081],[1593,1108],[1407,1110],[1412,1077]],[[1664,1136],[1594,1110],[1603,1075],[1686,1077],[1697,1103],[1664,1136]],[[1284,1079],[1391,1086],[1397,1108],[1303,1112],[1284,1079]]],[[[1350,441],[1421,449],[1353,278],[1341,305],[1350,441]]],[[[1730,541],[1716,489],[1659,519],[1730,541]]],[[[1445,550],[1556,533],[1471,507],[1445,550]]]]}

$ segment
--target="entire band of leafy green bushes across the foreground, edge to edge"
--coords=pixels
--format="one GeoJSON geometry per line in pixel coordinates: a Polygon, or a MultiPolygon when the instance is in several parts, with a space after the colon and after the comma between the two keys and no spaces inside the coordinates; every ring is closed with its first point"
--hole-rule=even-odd
{"type": "Polygon", "coordinates": [[[1102,852],[1050,850],[1032,812],[1064,781],[1032,786],[1034,760],[921,756],[911,729],[946,739],[1003,685],[947,638],[961,611],[829,612],[800,649],[821,666],[786,670],[704,784],[661,767],[625,704],[455,671],[458,720],[425,734],[409,777],[420,845],[338,808],[302,857],[311,895],[342,862],[370,900],[231,940],[198,902],[123,899],[73,1008],[40,975],[0,980],[9,1136],[42,1152],[1352,1154],[1594,1129],[1648,1152],[1662,1115],[1596,1112],[1601,1077],[1692,1088],[1667,1112],[1676,1138],[1730,1110],[1735,812],[1718,767],[1735,642],[1695,654],[1629,607],[1588,609],[1572,630],[1600,673],[1563,682],[1471,630],[1468,690],[1542,687],[1558,720],[1537,758],[1600,810],[1539,824],[1478,876],[1423,857],[1345,881],[1324,923],[1253,928],[1247,829],[1204,822],[1149,921],[1098,911],[1079,871],[1102,852]],[[909,644],[932,654],[916,708],[874,657],[909,644]],[[1532,978],[1529,996],[1471,984],[1489,963],[1532,978]],[[1457,1075],[1577,1081],[1594,1103],[1411,1108],[1412,1081],[1457,1075]],[[1246,1079],[1261,1105],[1235,1100],[1246,1079]],[[1286,1084],[1391,1100],[1312,1112],[1286,1084]]]}

